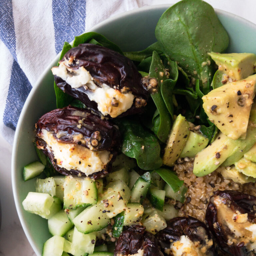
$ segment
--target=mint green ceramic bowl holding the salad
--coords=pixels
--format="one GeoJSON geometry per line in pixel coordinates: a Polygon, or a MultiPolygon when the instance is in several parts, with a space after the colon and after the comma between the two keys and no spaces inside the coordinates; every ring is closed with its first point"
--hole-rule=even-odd
{"type": "MultiPolygon", "coordinates": [[[[149,6],[115,16],[90,29],[103,34],[123,51],[142,50],[156,41],[155,26],[161,14],[170,5],[149,6]]],[[[256,25],[236,15],[216,10],[230,38],[229,52],[256,53],[256,25]]],[[[89,31],[87,31],[89,32],[89,31]]],[[[25,234],[38,256],[43,243],[50,238],[47,220],[28,213],[22,208],[22,201],[29,191],[35,191],[34,180],[24,182],[24,165],[37,160],[33,145],[34,124],[46,112],[55,109],[55,93],[51,67],[59,56],[42,73],[30,92],[17,125],[12,152],[12,187],[18,215],[25,234]]]]}

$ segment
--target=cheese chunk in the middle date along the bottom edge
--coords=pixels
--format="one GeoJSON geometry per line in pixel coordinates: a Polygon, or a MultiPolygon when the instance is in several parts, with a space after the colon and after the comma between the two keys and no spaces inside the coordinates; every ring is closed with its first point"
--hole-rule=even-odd
{"type": "Polygon", "coordinates": [[[174,256],[203,256],[199,248],[184,235],[180,240],[173,242],[170,249],[174,256]]]}

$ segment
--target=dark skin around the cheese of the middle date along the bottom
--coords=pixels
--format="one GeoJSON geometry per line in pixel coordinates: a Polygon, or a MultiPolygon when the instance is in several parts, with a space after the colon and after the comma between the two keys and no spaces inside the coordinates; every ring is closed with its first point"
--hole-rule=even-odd
{"type": "Polygon", "coordinates": [[[188,236],[193,242],[199,244],[199,248],[205,247],[206,250],[203,252],[208,256],[218,255],[215,251],[213,239],[211,233],[208,231],[206,225],[198,219],[193,217],[176,217],[167,222],[167,227],[160,230],[156,234],[156,238],[160,242],[162,248],[165,250],[167,255],[171,246],[170,241],[178,241],[181,236],[188,236]]]}

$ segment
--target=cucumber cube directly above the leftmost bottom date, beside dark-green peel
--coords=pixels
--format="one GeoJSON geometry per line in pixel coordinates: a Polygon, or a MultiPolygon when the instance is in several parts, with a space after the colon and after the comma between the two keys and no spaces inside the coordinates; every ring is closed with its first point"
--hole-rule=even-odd
{"type": "Polygon", "coordinates": [[[124,226],[135,225],[140,221],[144,208],[139,203],[129,203],[124,211],[124,226]]]}

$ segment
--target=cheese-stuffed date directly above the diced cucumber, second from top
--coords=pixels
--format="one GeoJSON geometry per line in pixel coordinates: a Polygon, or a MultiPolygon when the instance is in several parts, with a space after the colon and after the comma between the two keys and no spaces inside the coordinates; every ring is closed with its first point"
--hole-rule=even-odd
{"type": "Polygon", "coordinates": [[[64,175],[105,176],[120,143],[117,127],[86,109],[55,109],[36,123],[37,147],[64,175]]]}

